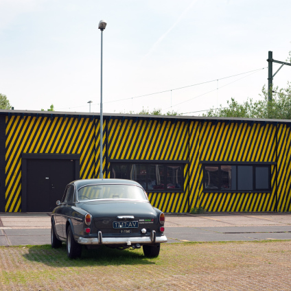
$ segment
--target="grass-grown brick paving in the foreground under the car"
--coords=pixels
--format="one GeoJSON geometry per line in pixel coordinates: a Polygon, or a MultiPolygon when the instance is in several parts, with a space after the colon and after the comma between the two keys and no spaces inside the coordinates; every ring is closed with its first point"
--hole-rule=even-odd
{"type": "Polygon", "coordinates": [[[291,241],[163,244],[142,249],[83,249],[65,244],[0,246],[0,290],[290,290],[291,241]],[[265,287],[266,288],[265,288],[265,287]]]}

